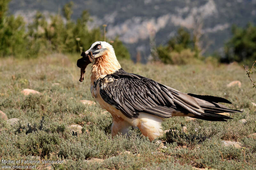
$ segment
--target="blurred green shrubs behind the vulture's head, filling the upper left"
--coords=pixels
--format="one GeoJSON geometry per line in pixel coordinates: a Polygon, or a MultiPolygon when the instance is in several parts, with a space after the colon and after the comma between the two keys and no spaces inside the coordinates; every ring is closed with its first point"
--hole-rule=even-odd
{"type": "MultiPolygon", "coordinates": [[[[93,42],[103,40],[100,28],[88,30],[90,16],[87,11],[83,11],[76,22],[71,20],[72,2],[64,5],[63,15],[51,15],[50,21],[38,11],[27,27],[22,17],[6,15],[8,2],[4,0],[0,4],[0,56],[34,58],[54,52],[77,53],[87,50],[93,42]]],[[[118,58],[130,59],[118,37],[112,45],[118,58]]]]}

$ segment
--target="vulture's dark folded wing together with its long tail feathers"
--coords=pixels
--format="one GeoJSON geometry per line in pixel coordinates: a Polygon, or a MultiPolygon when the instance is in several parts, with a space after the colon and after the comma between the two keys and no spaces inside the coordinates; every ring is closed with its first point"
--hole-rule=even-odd
{"type": "Polygon", "coordinates": [[[231,103],[214,96],[202,96],[179,92],[149,78],[125,72],[123,69],[100,79],[100,96],[108,104],[129,117],[138,117],[139,112],[157,115],[163,118],[172,116],[172,112],[192,113],[195,118],[210,121],[231,119],[217,113],[239,112],[217,104],[231,103]],[[104,85],[104,79],[114,81],[104,85]],[[104,86],[104,87],[102,87],[104,86]]]}

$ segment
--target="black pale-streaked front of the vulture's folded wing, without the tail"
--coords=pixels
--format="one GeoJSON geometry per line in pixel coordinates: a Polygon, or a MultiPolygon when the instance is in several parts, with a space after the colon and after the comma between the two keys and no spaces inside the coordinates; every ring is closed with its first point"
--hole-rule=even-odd
{"type": "MultiPolygon", "coordinates": [[[[100,88],[100,96],[108,104],[114,105],[127,117],[145,112],[160,117],[171,117],[175,109],[172,93],[165,86],[136,74],[118,71],[106,78],[116,81],[100,88]]],[[[103,79],[100,80],[103,85],[103,79]]]]}

